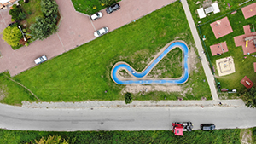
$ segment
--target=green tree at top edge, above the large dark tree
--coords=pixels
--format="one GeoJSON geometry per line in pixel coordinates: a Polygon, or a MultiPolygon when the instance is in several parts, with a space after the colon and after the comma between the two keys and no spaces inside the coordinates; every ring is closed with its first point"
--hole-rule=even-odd
{"type": "Polygon", "coordinates": [[[58,13],[58,4],[55,0],[44,0],[41,1],[41,10],[45,16],[53,16],[58,13]]]}

